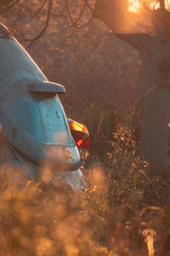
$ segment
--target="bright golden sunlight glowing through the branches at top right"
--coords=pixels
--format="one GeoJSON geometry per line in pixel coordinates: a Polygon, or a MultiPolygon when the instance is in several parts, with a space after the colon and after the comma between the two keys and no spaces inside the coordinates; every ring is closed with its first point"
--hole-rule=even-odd
{"type": "MultiPolygon", "coordinates": [[[[142,10],[142,1],[141,0],[128,0],[128,11],[138,14],[142,10]]],[[[156,0],[145,1],[150,9],[158,9],[160,3],[156,0]]],[[[170,9],[170,0],[165,0],[166,9],[170,9]]]]}

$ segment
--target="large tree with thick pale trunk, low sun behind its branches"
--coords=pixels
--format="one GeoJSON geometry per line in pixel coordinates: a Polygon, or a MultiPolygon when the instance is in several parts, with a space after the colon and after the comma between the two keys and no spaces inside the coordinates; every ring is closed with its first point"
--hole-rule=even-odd
{"type": "MultiPolygon", "coordinates": [[[[132,2],[132,1],[131,1],[132,2]]],[[[145,1],[146,2],[146,1],[145,1]]],[[[150,1],[151,2],[151,1],[150,1]]],[[[140,2],[141,3],[141,2],[140,2]]],[[[139,154],[148,160],[154,173],[167,172],[168,167],[168,137],[170,121],[170,13],[165,9],[165,3],[160,1],[158,9],[150,10],[150,3],[141,4],[147,9],[152,25],[151,32],[140,32],[137,27],[129,26],[132,15],[122,13],[122,8],[116,1],[96,1],[96,15],[103,20],[118,38],[139,51],[143,61],[142,84],[144,89],[155,87],[151,94],[144,96],[143,120],[139,154]],[[117,16],[122,16],[127,22],[127,31],[122,32],[122,26],[117,16]],[[131,15],[131,17],[130,17],[131,15]]],[[[156,8],[156,4],[155,4],[156,8]]],[[[146,28],[146,27],[145,27],[146,28]]]]}

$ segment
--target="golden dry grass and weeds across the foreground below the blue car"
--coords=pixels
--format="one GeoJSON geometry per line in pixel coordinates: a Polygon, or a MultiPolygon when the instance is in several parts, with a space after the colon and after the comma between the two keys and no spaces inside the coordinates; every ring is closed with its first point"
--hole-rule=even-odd
{"type": "Polygon", "coordinates": [[[149,176],[126,125],[110,147],[103,165],[89,164],[81,193],[1,166],[0,255],[170,255],[169,180],[149,176]]]}

